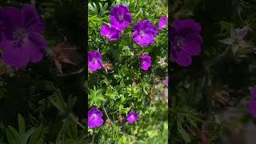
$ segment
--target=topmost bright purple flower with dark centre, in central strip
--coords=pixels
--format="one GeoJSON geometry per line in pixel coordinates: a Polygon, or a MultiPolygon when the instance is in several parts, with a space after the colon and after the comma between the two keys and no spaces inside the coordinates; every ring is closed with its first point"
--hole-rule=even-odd
{"type": "Polygon", "coordinates": [[[110,23],[112,27],[118,30],[125,30],[126,26],[131,24],[131,14],[127,6],[114,6],[110,11],[110,23]]]}

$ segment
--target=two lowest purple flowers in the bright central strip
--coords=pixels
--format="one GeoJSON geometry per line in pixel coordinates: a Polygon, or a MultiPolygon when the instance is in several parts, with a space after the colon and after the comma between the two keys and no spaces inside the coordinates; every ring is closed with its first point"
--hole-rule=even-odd
{"type": "MultiPolygon", "coordinates": [[[[93,107],[88,112],[88,128],[97,128],[103,124],[103,114],[101,110],[93,107]]],[[[129,114],[126,116],[126,121],[129,123],[137,122],[139,114],[135,113],[134,110],[130,110],[129,114]]]]}

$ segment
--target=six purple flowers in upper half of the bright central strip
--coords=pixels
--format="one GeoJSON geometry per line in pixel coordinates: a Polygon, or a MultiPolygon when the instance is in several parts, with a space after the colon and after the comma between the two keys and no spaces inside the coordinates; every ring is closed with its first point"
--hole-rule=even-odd
{"type": "MultiPolygon", "coordinates": [[[[132,15],[129,8],[124,5],[114,6],[110,11],[110,26],[103,25],[100,30],[102,37],[110,41],[116,41],[122,36],[122,31],[131,24],[132,15]]],[[[159,19],[159,30],[167,28],[168,18],[166,16],[159,19]]],[[[149,46],[154,43],[154,37],[158,35],[158,29],[149,20],[138,22],[134,25],[133,39],[140,46],[149,46]]],[[[102,69],[102,54],[99,51],[88,52],[88,66],[91,71],[102,69]]],[[[142,55],[141,68],[148,70],[151,66],[150,55],[142,55]]]]}

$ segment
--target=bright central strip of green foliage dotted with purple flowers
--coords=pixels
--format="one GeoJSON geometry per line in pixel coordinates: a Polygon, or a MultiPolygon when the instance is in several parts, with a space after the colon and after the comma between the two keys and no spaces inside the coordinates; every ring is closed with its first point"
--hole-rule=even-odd
{"type": "Polygon", "coordinates": [[[167,143],[167,1],[88,3],[90,143],[167,143]]]}

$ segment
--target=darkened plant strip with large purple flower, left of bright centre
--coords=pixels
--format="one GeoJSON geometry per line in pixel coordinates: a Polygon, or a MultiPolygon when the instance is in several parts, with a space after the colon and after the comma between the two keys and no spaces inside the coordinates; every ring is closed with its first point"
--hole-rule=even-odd
{"type": "Polygon", "coordinates": [[[84,7],[0,2],[0,143],[86,143],[84,7]]]}

